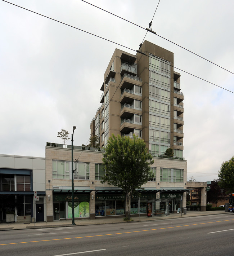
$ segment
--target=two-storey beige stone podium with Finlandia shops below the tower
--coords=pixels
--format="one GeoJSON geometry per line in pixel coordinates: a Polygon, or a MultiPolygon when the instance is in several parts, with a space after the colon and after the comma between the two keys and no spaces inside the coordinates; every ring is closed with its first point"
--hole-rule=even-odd
{"type": "MultiPolygon", "coordinates": [[[[131,214],[152,215],[176,212],[186,206],[186,164],[182,159],[153,158],[154,177],[140,190],[140,198],[131,199],[131,214]],[[183,201],[181,201],[183,200],[183,201]]],[[[75,218],[124,217],[126,200],[122,189],[102,184],[103,152],[74,146],[75,218]]],[[[46,220],[72,218],[71,146],[49,144],[46,161],[46,220]]]]}

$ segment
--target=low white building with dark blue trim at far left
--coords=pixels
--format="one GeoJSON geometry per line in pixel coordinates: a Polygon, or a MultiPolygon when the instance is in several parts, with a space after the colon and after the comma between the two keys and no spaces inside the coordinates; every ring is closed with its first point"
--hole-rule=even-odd
{"type": "Polygon", "coordinates": [[[0,155],[0,222],[34,221],[35,210],[44,221],[44,209],[45,158],[0,155]]]}

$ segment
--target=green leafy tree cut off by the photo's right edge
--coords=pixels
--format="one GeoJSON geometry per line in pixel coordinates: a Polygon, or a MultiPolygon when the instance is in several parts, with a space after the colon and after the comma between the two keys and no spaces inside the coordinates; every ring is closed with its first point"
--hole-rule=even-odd
{"type": "Polygon", "coordinates": [[[219,186],[228,193],[234,193],[234,156],[222,163],[218,177],[219,186]]]}

